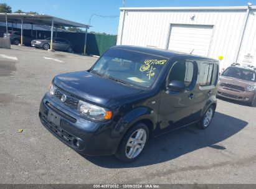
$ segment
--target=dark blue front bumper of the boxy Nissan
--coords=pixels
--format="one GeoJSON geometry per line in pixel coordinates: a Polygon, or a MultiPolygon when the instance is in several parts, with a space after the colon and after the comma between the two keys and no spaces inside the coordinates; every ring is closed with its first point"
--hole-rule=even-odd
{"type": "Polygon", "coordinates": [[[58,102],[56,103],[46,94],[40,103],[39,118],[55,137],[80,154],[112,155],[115,154],[120,142],[120,136],[112,134],[113,123],[111,121],[92,122],[76,114],[70,114],[67,109],[61,108],[58,102]],[[49,111],[54,112],[60,118],[59,125],[50,121],[49,111]]]}

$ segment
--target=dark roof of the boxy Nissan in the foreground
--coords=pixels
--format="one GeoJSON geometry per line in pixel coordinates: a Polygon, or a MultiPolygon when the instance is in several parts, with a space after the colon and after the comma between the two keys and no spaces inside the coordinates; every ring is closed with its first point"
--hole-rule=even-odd
{"type": "MultiPolygon", "coordinates": [[[[148,53],[151,55],[161,56],[161,57],[165,57],[165,58],[171,58],[176,55],[182,55],[182,56],[186,56],[189,58],[199,58],[199,59],[211,60],[211,61],[214,60],[213,58],[202,57],[199,55],[193,55],[193,54],[178,52],[178,51],[173,51],[173,50],[164,50],[164,49],[160,49],[160,48],[139,47],[139,46],[130,46],[130,45],[116,45],[111,48],[119,48],[119,49],[123,49],[123,50],[131,50],[134,52],[148,53]]],[[[218,61],[218,60],[214,60],[214,61],[218,61]]]]}

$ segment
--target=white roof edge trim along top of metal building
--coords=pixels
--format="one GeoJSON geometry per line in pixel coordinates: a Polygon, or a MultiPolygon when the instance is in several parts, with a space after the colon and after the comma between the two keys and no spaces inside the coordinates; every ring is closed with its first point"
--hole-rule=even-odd
{"type": "MultiPolygon", "coordinates": [[[[120,7],[127,11],[174,11],[174,10],[246,10],[248,6],[225,6],[225,7],[120,7]]],[[[250,6],[256,9],[256,6],[250,6]]]]}

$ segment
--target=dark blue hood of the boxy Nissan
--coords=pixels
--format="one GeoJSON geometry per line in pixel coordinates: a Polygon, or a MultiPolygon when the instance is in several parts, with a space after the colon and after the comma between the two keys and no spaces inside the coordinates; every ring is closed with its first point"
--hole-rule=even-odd
{"type": "Polygon", "coordinates": [[[110,99],[141,93],[143,91],[138,88],[117,83],[108,78],[102,78],[88,71],[77,71],[57,75],[53,83],[70,94],[74,94],[75,96],[97,104],[102,104],[103,106],[107,104],[110,99]]]}

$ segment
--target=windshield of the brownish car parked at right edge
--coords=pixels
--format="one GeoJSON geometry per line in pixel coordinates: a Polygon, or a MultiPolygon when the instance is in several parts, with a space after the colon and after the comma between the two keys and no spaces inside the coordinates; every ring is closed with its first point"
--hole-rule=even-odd
{"type": "Polygon", "coordinates": [[[222,75],[242,80],[255,81],[255,71],[243,68],[229,67],[222,75]]]}

